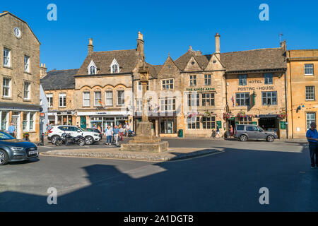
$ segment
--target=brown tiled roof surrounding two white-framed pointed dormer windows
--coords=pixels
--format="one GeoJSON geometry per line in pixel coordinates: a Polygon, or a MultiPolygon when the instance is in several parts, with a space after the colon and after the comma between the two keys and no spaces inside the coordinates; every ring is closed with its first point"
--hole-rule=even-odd
{"type": "Polygon", "coordinates": [[[136,49],[93,52],[88,54],[77,75],[88,75],[87,67],[92,60],[98,68],[98,75],[110,74],[110,65],[114,59],[119,64],[119,73],[132,73],[141,56],[136,49]]]}

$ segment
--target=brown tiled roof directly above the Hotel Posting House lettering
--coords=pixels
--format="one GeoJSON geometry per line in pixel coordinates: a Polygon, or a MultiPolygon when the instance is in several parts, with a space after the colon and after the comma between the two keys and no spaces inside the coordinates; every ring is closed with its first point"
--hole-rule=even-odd
{"type": "Polygon", "coordinates": [[[220,54],[220,61],[227,72],[286,69],[284,53],[282,48],[227,52],[220,54]]]}

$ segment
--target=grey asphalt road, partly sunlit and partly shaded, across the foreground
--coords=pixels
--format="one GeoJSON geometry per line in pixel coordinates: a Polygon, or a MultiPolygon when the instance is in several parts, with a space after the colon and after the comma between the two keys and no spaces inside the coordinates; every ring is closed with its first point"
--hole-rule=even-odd
{"type": "Polygon", "coordinates": [[[318,169],[310,169],[306,143],[167,141],[225,152],[160,163],[42,156],[13,163],[1,167],[0,211],[318,210],[318,169]],[[47,204],[50,187],[57,205],[47,204]],[[269,205],[259,203],[262,187],[269,205]]]}

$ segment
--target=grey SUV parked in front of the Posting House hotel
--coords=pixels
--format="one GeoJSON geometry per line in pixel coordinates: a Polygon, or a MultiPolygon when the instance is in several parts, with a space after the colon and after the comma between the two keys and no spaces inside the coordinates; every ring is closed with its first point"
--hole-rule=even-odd
{"type": "Polygon", "coordinates": [[[264,129],[261,129],[261,127],[257,125],[236,125],[234,137],[240,139],[240,141],[265,139],[269,142],[273,142],[278,138],[275,132],[264,131],[264,129]]]}

